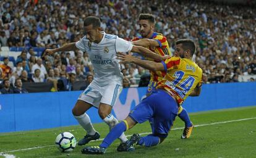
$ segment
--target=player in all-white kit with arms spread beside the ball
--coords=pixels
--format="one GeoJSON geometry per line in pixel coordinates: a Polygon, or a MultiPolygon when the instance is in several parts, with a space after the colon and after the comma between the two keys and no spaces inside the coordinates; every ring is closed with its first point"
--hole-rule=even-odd
{"type": "MultiPolygon", "coordinates": [[[[139,52],[145,57],[163,60],[166,57],[159,56],[147,48],[134,46],[115,35],[101,31],[98,17],[87,17],[83,23],[86,35],[76,43],[69,43],[61,48],[46,49],[46,54],[59,51],[74,51],[80,49],[88,52],[92,61],[95,78],[90,85],[80,94],[72,113],[80,125],[87,131],[87,135],[80,139],[79,145],[87,144],[91,140],[100,138],[100,134],[93,128],[90,117],[85,113],[91,107],[98,108],[98,114],[109,128],[118,123],[111,114],[112,107],[122,91],[122,73],[119,61],[116,59],[117,52],[139,52]]],[[[124,133],[119,137],[122,143],[127,141],[124,133]]]]}

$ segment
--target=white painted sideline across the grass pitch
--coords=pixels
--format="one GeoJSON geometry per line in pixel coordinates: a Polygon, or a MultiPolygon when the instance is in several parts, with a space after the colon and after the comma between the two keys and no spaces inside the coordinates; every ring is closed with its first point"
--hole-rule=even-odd
{"type": "MultiPolygon", "coordinates": [[[[230,123],[230,122],[241,122],[245,120],[253,120],[256,119],[256,117],[252,118],[242,118],[239,120],[229,120],[229,121],[223,121],[223,122],[214,122],[214,123],[207,123],[207,124],[202,124],[202,125],[194,125],[194,127],[203,127],[203,126],[210,126],[210,125],[217,125],[217,124],[224,124],[224,123],[230,123]]],[[[171,130],[181,130],[184,127],[179,127],[179,128],[173,128],[171,130]]],[[[146,132],[146,133],[140,133],[140,135],[148,135],[151,134],[151,132],[146,132]]],[[[127,135],[127,136],[132,136],[132,135],[127,135]]],[[[95,141],[102,141],[104,138],[97,139],[95,141]]],[[[50,146],[38,146],[38,147],[33,147],[33,148],[27,148],[27,149],[17,149],[13,151],[5,151],[5,152],[0,152],[0,156],[4,153],[9,153],[9,152],[16,152],[16,151],[28,151],[28,150],[33,150],[33,149],[40,149],[40,148],[46,148],[46,147],[51,147],[51,146],[56,146],[56,145],[50,145],[50,146]]]]}

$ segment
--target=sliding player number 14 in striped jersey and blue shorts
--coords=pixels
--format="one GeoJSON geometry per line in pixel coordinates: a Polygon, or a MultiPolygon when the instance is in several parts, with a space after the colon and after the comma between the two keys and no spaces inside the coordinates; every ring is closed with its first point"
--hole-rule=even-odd
{"type": "Polygon", "coordinates": [[[148,70],[165,71],[166,75],[156,91],[135,106],[123,122],[118,123],[106,136],[100,146],[82,149],[83,154],[105,154],[108,148],[122,132],[154,118],[154,130],[151,135],[134,134],[126,143],[118,146],[117,151],[129,151],[136,144],[140,146],[156,146],[164,141],[177,116],[178,107],[187,96],[198,96],[202,86],[202,69],[192,61],[195,43],[191,39],[176,41],[177,57],[164,62],[151,62],[137,59],[130,54],[119,54],[121,63],[134,63],[148,70]]]}

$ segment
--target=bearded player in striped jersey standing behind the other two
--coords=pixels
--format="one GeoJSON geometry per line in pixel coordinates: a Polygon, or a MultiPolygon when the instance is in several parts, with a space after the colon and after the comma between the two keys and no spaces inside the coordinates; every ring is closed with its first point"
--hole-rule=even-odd
{"type": "MultiPolygon", "coordinates": [[[[152,14],[140,14],[139,15],[139,26],[140,26],[140,35],[132,39],[132,43],[137,46],[143,46],[150,49],[151,51],[159,54],[160,56],[169,55],[171,56],[171,51],[169,49],[169,44],[165,36],[161,33],[154,32],[155,30],[155,17],[152,14]]],[[[148,59],[151,60],[152,59],[148,59]]],[[[148,84],[147,96],[149,96],[152,91],[155,91],[157,83],[162,80],[166,75],[166,72],[162,71],[150,71],[150,83],[148,84]]],[[[189,114],[187,110],[182,106],[179,107],[179,118],[185,123],[185,128],[181,135],[182,139],[189,138],[193,124],[190,121],[189,114]]],[[[153,127],[153,120],[150,120],[151,128],[153,127]]],[[[153,128],[152,128],[153,129],[153,128]]]]}

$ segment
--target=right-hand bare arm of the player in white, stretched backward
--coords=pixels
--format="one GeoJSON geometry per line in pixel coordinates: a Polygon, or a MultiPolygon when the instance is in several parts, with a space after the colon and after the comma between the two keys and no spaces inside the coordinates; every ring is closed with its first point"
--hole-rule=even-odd
{"type": "Polygon", "coordinates": [[[170,56],[160,56],[159,54],[155,54],[155,52],[152,52],[147,48],[143,48],[142,46],[133,46],[131,51],[138,52],[142,56],[150,57],[151,59],[154,59],[158,62],[161,62],[161,60],[165,60],[170,57],[170,56]]]}

